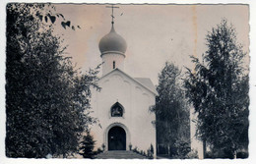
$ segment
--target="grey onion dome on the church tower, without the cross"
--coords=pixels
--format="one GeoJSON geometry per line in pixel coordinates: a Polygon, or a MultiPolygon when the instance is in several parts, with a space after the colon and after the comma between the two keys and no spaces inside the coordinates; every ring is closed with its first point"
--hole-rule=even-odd
{"type": "Polygon", "coordinates": [[[119,53],[124,55],[127,44],[124,38],[117,34],[112,26],[110,32],[100,39],[98,47],[101,55],[106,53],[119,53]]]}

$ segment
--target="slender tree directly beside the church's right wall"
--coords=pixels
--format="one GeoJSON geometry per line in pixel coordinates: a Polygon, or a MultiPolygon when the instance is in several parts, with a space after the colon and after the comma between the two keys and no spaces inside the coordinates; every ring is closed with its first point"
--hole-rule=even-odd
{"type": "Polygon", "coordinates": [[[189,109],[187,106],[181,71],[171,63],[166,62],[159,75],[157,86],[159,96],[156,106],[157,142],[168,149],[170,157],[184,158],[180,153],[178,142],[190,145],[189,109]]]}

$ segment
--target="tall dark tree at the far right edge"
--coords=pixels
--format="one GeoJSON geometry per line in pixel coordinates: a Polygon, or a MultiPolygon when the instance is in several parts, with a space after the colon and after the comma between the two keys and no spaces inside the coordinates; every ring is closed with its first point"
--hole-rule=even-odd
{"type": "Polygon", "coordinates": [[[214,157],[233,158],[248,146],[248,70],[235,29],[223,20],[206,36],[202,62],[192,57],[187,70],[187,96],[198,114],[197,137],[215,151],[214,157]]]}

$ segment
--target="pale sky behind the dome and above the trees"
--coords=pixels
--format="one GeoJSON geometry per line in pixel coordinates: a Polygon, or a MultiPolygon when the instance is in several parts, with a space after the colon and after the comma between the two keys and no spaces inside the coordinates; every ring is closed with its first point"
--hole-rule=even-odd
{"type": "MultiPolygon", "coordinates": [[[[55,4],[57,13],[74,26],[55,27],[68,45],[66,53],[83,71],[101,63],[98,42],[111,27],[107,4],[55,4]]],[[[166,61],[183,71],[193,68],[190,56],[201,57],[206,34],[226,19],[235,27],[237,40],[249,46],[249,8],[247,5],[117,5],[114,27],[127,42],[124,71],[134,78],[150,78],[158,84],[158,74],[166,61]]],[[[59,20],[61,21],[61,20],[59,20]]]]}

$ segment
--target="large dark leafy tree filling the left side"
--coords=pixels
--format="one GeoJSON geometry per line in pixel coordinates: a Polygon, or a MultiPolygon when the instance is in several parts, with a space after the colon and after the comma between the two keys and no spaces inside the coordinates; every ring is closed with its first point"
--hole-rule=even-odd
{"type": "Polygon", "coordinates": [[[99,89],[98,68],[85,75],[74,69],[63,55],[62,40],[52,34],[53,22],[37,17],[44,4],[6,9],[6,155],[65,157],[96,121],[89,109],[90,87],[99,89]]]}

